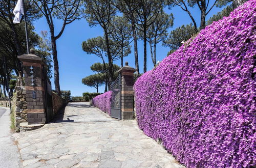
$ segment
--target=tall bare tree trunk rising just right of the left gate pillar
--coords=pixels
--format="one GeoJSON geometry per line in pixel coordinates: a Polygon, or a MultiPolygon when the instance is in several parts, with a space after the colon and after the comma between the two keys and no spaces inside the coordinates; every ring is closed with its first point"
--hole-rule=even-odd
{"type": "Polygon", "coordinates": [[[56,40],[55,40],[53,31],[50,31],[50,32],[51,32],[53,68],[54,68],[54,85],[55,85],[56,93],[60,96],[59,63],[58,63],[58,57],[57,57],[57,45],[56,45],[56,40]]]}

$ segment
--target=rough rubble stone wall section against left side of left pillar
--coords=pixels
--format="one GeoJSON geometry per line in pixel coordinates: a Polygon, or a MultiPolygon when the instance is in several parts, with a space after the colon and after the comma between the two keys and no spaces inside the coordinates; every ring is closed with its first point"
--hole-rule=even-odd
{"type": "Polygon", "coordinates": [[[19,124],[28,122],[25,87],[16,87],[12,99],[12,113],[15,113],[15,130],[19,132],[19,124]]]}

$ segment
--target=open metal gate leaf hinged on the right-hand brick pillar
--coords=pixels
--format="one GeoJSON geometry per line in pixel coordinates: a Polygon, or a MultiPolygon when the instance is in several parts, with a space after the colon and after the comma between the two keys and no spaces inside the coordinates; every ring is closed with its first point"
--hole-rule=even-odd
{"type": "Polygon", "coordinates": [[[121,119],[121,75],[111,84],[110,90],[112,91],[111,98],[111,113],[113,118],[121,119]]]}

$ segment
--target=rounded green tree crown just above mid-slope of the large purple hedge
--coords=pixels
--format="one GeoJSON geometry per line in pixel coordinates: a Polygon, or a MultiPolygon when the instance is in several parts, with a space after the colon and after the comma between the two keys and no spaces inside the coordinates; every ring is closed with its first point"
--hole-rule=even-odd
{"type": "Polygon", "coordinates": [[[192,23],[182,25],[181,27],[178,27],[170,32],[168,38],[163,41],[163,46],[169,47],[170,52],[174,52],[176,49],[182,46],[182,43],[190,39],[194,34],[196,34],[196,31],[192,23]]]}

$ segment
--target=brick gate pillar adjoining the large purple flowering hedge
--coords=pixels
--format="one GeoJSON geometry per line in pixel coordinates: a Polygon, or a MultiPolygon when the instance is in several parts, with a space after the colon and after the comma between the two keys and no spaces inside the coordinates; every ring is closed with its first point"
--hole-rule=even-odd
{"type": "Polygon", "coordinates": [[[128,66],[128,62],[125,62],[125,66],[118,70],[121,74],[121,119],[133,120],[134,119],[134,72],[136,70],[128,66]]]}

